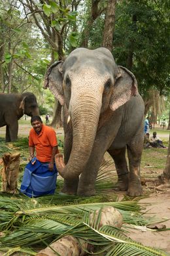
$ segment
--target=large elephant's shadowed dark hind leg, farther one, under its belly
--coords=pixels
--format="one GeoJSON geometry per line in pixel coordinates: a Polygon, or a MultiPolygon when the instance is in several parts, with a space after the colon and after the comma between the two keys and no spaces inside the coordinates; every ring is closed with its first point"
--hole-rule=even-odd
{"type": "Polygon", "coordinates": [[[126,146],[118,150],[107,150],[107,152],[109,152],[110,156],[112,156],[112,159],[114,160],[118,174],[118,190],[126,191],[128,188],[129,175],[126,162],[126,146]]]}

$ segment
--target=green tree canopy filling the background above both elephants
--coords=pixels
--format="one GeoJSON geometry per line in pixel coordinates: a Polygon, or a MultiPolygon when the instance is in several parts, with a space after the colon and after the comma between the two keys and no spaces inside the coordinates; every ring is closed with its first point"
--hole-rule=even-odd
{"type": "Polygon", "coordinates": [[[43,105],[53,97],[42,89],[46,68],[75,47],[107,47],[109,38],[108,48],[135,74],[145,102],[153,89],[168,96],[169,7],[167,0],[0,0],[1,91],[32,91],[43,105]]]}

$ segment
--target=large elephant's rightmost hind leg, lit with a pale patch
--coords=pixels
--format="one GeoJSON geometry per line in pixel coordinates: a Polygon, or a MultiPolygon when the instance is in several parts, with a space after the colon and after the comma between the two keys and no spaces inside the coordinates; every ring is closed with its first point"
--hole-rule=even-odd
{"type": "Polygon", "coordinates": [[[127,156],[129,158],[129,184],[127,194],[129,196],[141,196],[141,155],[143,151],[143,136],[133,137],[130,144],[127,145],[127,156]]]}

